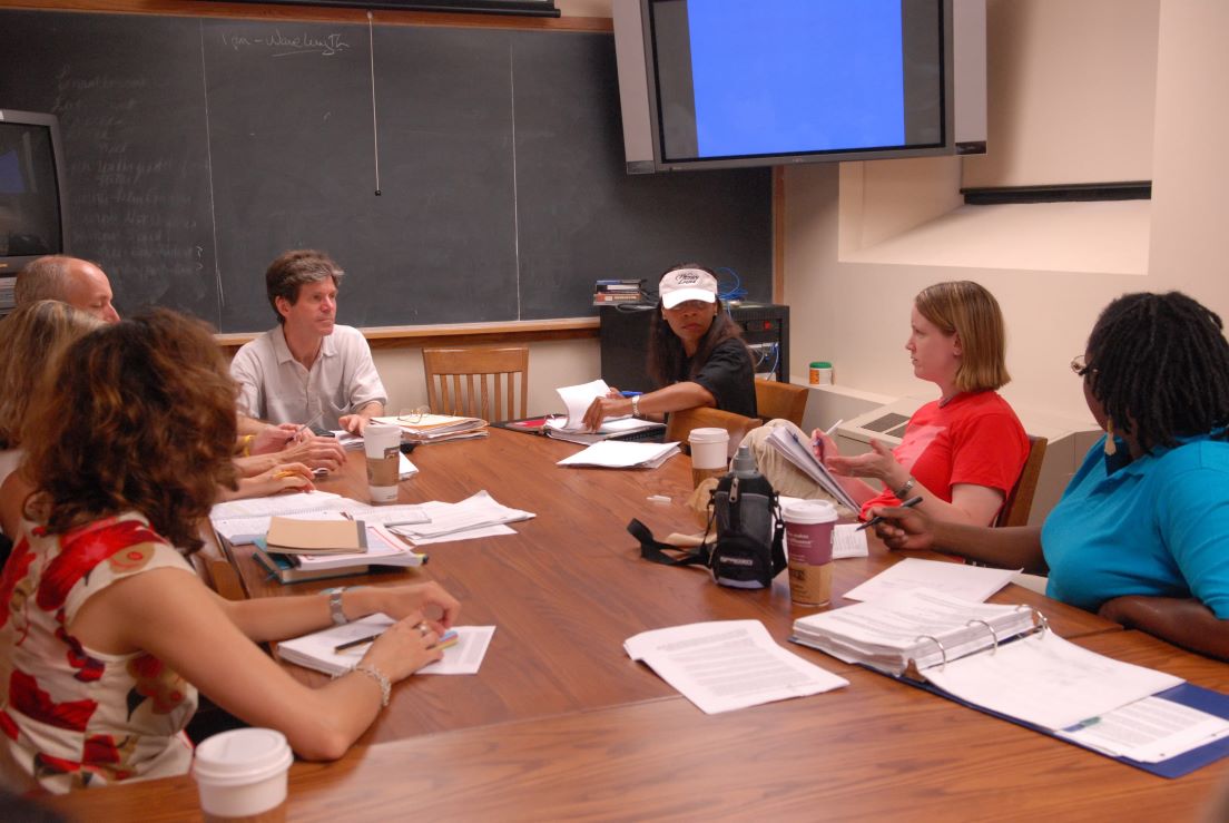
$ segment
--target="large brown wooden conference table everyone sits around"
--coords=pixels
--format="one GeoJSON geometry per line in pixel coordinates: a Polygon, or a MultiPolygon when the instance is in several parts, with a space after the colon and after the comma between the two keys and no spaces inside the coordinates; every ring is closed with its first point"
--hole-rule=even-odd
{"type": "MultiPolygon", "coordinates": [[[[623,641],[683,622],[756,619],[784,642],[807,610],[790,605],[784,575],[771,590],[741,592],[694,568],[640,560],[624,530],[632,517],[659,538],[694,530],[686,458],[653,471],[554,465],[576,449],[493,429],[484,440],[413,453],[420,471],[402,482],[399,502],[455,502],[485,488],[537,517],[514,524],[515,535],[428,546],[420,571],[361,581],[434,578],[462,600],[461,622],[498,629],[477,675],[410,678],[340,761],[295,763],[289,819],[1192,819],[1229,780],[1224,764],[1155,777],[798,646],[789,648],[849,686],[704,715],[632,662],[623,641]],[[646,499],[654,495],[672,502],[646,499]]],[[[321,486],[365,497],[361,454],[321,486]]],[[[833,605],[897,559],[873,545],[866,559],[837,561],[833,605]]],[[[248,597],[329,586],[269,582],[249,547],[235,549],[232,561],[248,597]]],[[[1229,689],[1222,663],[1020,587],[992,600],[1034,605],[1054,631],[1095,651],[1229,689]]],[[[308,683],[323,677],[289,668],[308,683]]],[[[91,819],[200,814],[190,776],[49,802],[91,819]]]]}

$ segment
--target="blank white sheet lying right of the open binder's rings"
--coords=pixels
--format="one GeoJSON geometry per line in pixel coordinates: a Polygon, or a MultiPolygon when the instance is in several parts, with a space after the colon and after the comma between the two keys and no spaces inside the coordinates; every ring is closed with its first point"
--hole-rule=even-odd
{"type": "Polygon", "coordinates": [[[923,674],[961,700],[1052,731],[1182,683],[1172,674],[1080,648],[1050,631],[923,674]]]}

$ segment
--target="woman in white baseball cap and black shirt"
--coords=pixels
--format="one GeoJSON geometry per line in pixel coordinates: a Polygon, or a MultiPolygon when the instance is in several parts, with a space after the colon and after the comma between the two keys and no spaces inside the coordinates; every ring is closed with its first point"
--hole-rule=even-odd
{"type": "Polygon", "coordinates": [[[612,389],[594,400],[585,426],[606,417],[655,417],[709,406],[756,416],[755,363],[717,295],[717,276],[698,263],[672,266],[658,287],[649,332],[649,376],[661,386],[635,397],[612,389]]]}

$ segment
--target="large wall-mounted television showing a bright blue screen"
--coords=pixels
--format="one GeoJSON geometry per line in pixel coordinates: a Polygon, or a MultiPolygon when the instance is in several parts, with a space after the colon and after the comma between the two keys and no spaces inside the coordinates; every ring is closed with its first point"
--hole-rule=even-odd
{"type": "Polygon", "coordinates": [[[952,0],[613,4],[629,172],[957,151],[952,0]]]}

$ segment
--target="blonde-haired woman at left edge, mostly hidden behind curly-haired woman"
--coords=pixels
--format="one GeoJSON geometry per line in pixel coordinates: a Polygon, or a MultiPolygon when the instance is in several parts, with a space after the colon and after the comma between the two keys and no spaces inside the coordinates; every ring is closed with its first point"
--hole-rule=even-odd
{"type": "Polygon", "coordinates": [[[28,303],[0,321],[0,534],[16,536],[23,483],[10,477],[21,463],[21,427],[43,375],[64,348],[102,325],[59,300],[28,303]]]}

